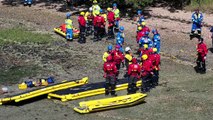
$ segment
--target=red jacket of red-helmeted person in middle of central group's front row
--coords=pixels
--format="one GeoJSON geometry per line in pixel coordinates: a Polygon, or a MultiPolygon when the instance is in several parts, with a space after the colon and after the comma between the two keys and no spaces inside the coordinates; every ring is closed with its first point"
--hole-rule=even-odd
{"type": "Polygon", "coordinates": [[[128,67],[128,75],[129,76],[134,76],[134,77],[139,77],[141,72],[141,67],[139,64],[130,64],[128,67]]]}

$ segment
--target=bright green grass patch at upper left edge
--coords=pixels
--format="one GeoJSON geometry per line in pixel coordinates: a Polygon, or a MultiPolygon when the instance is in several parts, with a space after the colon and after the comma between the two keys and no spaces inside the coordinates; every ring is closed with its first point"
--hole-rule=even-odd
{"type": "Polygon", "coordinates": [[[41,34],[28,31],[26,28],[10,28],[0,30],[0,45],[10,43],[39,43],[53,41],[50,34],[41,34]]]}

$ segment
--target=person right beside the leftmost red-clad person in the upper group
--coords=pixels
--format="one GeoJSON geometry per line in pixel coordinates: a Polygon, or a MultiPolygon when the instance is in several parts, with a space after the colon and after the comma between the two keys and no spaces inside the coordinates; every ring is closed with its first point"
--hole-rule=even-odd
{"type": "Polygon", "coordinates": [[[89,11],[85,14],[86,24],[86,36],[91,35],[93,32],[93,19],[92,7],[89,8],[89,11]]]}

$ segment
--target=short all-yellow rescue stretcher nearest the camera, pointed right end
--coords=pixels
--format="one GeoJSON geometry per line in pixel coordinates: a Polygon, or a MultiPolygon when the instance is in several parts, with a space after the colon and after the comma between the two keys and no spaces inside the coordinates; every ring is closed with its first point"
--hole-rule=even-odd
{"type": "Polygon", "coordinates": [[[112,98],[83,101],[79,103],[79,107],[74,107],[74,111],[85,114],[107,109],[133,106],[143,102],[146,96],[146,94],[135,93],[112,98]]]}

